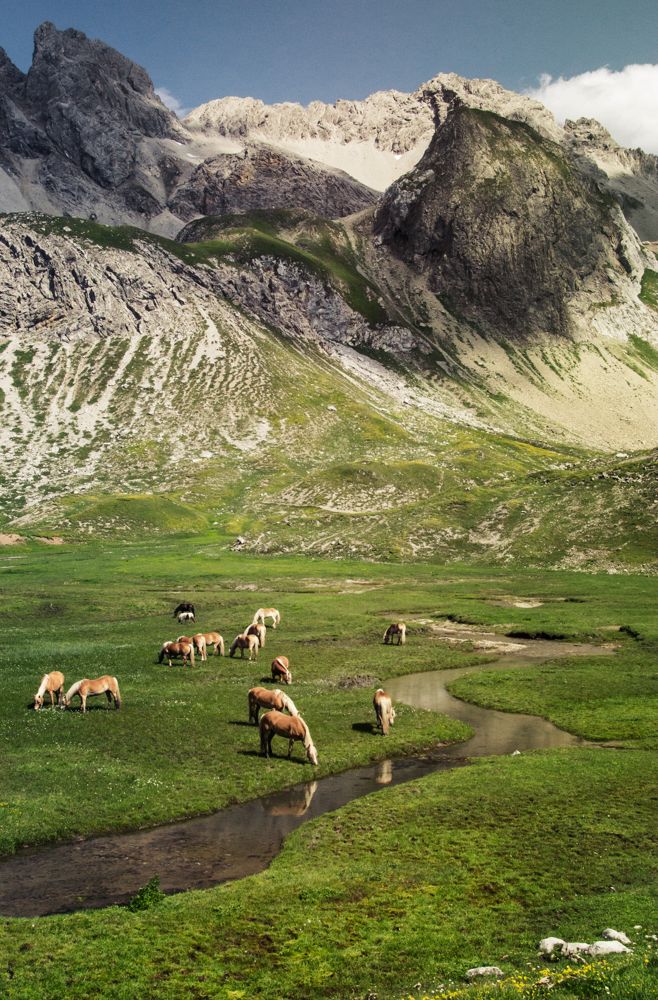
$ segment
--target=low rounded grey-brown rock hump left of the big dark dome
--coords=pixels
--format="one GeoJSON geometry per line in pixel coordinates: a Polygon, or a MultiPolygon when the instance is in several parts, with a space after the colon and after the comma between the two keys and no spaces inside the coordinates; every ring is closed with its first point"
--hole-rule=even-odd
{"type": "Polygon", "coordinates": [[[375,200],[374,191],[341,171],[268,146],[247,146],[240,154],[200,164],[169,207],[183,219],[276,208],[303,208],[333,219],[375,200]]]}

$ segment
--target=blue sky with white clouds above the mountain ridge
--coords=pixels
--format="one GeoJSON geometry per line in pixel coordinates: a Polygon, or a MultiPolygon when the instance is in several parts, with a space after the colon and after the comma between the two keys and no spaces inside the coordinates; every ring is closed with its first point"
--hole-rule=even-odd
{"type": "Polygon", "coordinates": [[[144,66],[176,110],[359,99],[456,72],[561,118],[609,113],[616,138],[658,152],[657,0],[0,0],[0,46],[23,70],[45,20],[144,66]]]}

